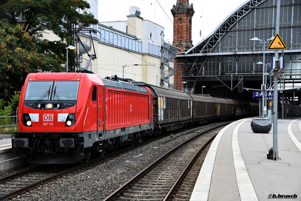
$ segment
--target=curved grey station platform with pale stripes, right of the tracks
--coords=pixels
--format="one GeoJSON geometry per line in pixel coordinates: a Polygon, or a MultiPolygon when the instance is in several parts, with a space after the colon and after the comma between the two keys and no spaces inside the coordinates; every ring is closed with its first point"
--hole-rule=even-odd
{"type": "Polygon", "coordinates": [[[269,133],[253,133],[252,119],[235,121],[218,133],[190,201],[301,200],[301,118],[278,118],[278,160],[267,159],[273,127],[269,133]]]}

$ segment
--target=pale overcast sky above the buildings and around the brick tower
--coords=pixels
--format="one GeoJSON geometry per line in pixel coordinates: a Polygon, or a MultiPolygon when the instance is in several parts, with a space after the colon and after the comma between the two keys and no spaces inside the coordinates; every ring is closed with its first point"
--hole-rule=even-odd
{"type": "MultiPolygon", "coordinates": [[[[208,36],[218,25],[236,8],[247,0],[189,0],[193,4],[194,16],[192,17],[192,40],[197,44],[208,36]],[[201,37],[200,37],[200,30],[201,37]]],[[[165,31],[165,40],[173,39],[173,17],[170,12],[176,0],[113,0],[98,1],[98,20],[126,21],[130,6],[140,8],[144,20],[150,20],[162,27],[165,31]]]]}

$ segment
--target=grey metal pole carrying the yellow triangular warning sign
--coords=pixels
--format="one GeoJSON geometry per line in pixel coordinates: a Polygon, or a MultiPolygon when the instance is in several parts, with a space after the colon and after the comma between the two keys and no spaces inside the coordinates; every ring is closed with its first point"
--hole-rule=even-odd
{"type": "MultiPolygon", "coordinates": [[[[276,7],[276,33],[279,33],[280,24],[280,0],[277,0],[276,7]]],[[[278,69],[278,50],[275,50],[275,68],[278,69]]],[[[273,100],[273,159],[278,160],[278,139],[277,139],[277,100],[278,100],[278,70],[274,70],[274,100],[273,100]]]]}

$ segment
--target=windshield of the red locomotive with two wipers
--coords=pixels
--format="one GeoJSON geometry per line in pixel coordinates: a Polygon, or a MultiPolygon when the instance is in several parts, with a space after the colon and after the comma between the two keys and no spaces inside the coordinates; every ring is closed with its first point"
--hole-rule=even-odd
{"type": "Polygon", "coordinates": [[[29,81],[25,100],[76,100],[79,81],[29,81]]]}

